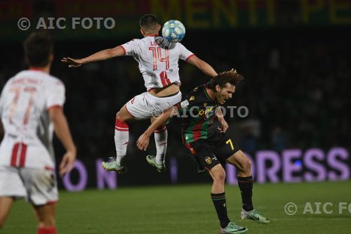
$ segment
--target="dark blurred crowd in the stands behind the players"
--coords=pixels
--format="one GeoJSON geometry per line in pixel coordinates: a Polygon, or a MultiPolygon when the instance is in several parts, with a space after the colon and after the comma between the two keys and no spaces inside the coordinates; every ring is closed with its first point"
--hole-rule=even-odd
{"type": "MultiPolygon", "coordinates": [[[[135,94],[145,91],[133,58],[115,58],[72,69],[60,58],[80,58],[123,44],[116,41],[57,41],[51,74],[66,85],[65,113],[79,157],[114,155],[114,115],[135,94]]],[[[261,149],[331,148],[349,145],[350,36],[343,30],[271,30],[269,32],[187,32],[183,44],[218,72],[231,67],[244,74],[227,105],[249,108],[246,118],[229,118],[236,144],[246,152],[261,149]]],[[[0,86],[26,68],[19,43],[3,43],[0,86]]],[[[180,63],[185,96],[208,77],[180,63]]],[[[128,157],[138,157],[135,141],[149,122],[131,126],[128,157]]],[[[168,124],[168,155],[180,150],[180,120],[168,124]]],[[[153,145],[150,151],[154,151],[153,145]]],[[[145,154],[145,153],[143,153],[145,154]]]]}

